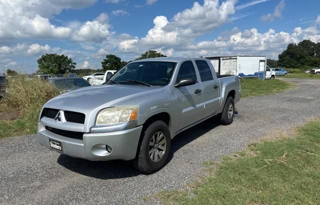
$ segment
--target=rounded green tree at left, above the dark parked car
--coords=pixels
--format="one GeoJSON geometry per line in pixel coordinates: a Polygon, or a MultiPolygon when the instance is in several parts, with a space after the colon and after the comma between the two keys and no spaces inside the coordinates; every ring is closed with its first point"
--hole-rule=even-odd
{"type": "Polygon", "coordinates": [[[65,55],[47,54],[42,55],[38,60],[38,73],[65,73],[71,72],[76,63],[65,55]]]}

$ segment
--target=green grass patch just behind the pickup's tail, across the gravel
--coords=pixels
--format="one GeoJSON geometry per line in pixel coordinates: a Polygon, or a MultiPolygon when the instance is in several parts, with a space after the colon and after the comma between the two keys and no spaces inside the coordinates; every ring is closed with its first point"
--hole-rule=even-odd
{"type": "Polygon", "coordinates": [[[241,79],[241,97],[262,96],[283,92],[292,87],[292,84],[281,80],[259,80],[242,78],[241,79]]]}

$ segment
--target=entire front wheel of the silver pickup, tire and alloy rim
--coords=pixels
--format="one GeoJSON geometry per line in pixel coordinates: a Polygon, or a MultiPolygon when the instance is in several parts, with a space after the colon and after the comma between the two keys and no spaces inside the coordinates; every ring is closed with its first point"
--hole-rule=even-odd
{"type": "Polygon", "coordinates": [[[142,134],[134,166],[144,173],[161,169],[170,153],[171,137],[168,126],[163,121],[155,121],[142,134]]]}

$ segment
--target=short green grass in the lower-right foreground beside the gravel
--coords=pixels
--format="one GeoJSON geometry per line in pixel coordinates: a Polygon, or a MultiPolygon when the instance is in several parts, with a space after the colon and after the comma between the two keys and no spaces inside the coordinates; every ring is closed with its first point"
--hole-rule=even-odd
{"type": "Polygon", "coordinates": [[[160,192],[163,204],[319,204],[320,121],[216,163],[191,191],[160,192]]]}

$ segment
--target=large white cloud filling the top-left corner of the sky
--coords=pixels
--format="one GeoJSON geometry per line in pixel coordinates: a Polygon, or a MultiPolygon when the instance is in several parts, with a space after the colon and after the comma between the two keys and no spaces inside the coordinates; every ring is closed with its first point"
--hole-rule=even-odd
{"type": "Polygon", "coordinates": [[[51,24],[49,18],[62,9],[83,8],[96,0],[1,0],[0,39],[66,38],[71,29],[51,24]],[[5,20],[4,20],[5,19],[5,20]]]}

